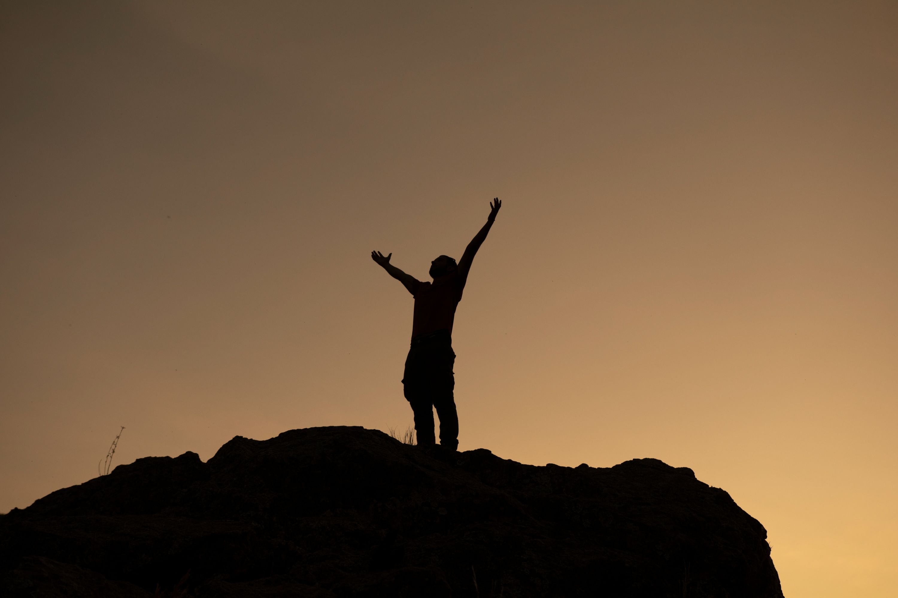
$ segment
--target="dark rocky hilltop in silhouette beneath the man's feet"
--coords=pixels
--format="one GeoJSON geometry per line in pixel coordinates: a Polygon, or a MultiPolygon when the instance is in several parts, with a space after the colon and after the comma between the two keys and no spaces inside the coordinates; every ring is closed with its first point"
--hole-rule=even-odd
{"type": "Polygon", "coordinates": [[[656,459],[538,467],[293,429],[207,463],[137,459],[0,517],[0,594],[781,598],[766,535],[656,459]]]}

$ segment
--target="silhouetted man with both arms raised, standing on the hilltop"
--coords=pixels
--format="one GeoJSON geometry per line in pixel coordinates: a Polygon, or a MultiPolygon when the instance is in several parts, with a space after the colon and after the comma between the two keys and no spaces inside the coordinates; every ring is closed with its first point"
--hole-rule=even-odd
{"type": "Polygon", "coordinates": [[[372,251],[371,258],[383,266],[393,278],[405,285],[415,298],[415,316],[411,326],[411,348],[405,360],[402,376],[405,398],[415,413],[415,431],[419,446],[434,446],[434,407],[440,418],[440,446],[458,449],[458,414],[455,411],[455,377],[452,350],[452,325],[455,307],[462,300],[464,283],[471,271],[471,262],[489,228],[496,221],[502,202],[498,197],[489,203],[489,217],[455,264],[449,256],[439,256],[430,263],[434,282],[420,282],[390,264],[390,257],[372,251]]]}

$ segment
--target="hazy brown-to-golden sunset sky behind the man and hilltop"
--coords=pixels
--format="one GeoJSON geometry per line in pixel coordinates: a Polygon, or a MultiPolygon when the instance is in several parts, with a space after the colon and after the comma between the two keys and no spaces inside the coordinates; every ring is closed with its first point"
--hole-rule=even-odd
{"type": "Polygon", "coordinates": [[[789,598],[898,585],[898,4],[4,2],[0,512],[234,436],[691,467],[789,598]]]}

